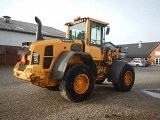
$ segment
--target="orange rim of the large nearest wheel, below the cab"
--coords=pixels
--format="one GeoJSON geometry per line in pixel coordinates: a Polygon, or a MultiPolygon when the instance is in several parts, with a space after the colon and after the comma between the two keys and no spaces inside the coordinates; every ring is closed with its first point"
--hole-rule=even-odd
{"type": "Polygon", "coordinates": [[[74,81],[74,90],[78,94],[83,94],[88,90],[89,78],[85,74],[80,74],[76,77],[74,81]]]}

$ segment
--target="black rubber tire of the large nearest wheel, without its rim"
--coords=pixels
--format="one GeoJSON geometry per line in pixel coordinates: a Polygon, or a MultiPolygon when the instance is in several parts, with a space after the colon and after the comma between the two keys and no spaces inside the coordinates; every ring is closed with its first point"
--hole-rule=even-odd
{"type": "Polygon", "coordinates": [[[94,75],[92,73],[92,70],[84,64],[76,64],[67,68],[63,79],[59,82],[59,89],[61,95],[65,99],[71,100],[73,102],[81,102],[86,100],[91,95],[93,88],[94,75]],[[76,77],[80,74],[85,74],[89,78],[89,87],[82,94],[78,94],[74,90],[74,81],[76,77]]]}

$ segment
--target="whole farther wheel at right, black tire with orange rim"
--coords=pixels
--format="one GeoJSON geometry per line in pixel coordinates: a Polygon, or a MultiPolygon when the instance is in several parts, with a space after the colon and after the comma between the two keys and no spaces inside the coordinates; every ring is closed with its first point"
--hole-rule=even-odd
{"type": "Polygon", "coordinates": [[[134,69],[132,66],[126,64],[119,75],[118,82],[112,84],[116,90],[127,92],[133,87],[134,81],[135,81],[134,69]]]}

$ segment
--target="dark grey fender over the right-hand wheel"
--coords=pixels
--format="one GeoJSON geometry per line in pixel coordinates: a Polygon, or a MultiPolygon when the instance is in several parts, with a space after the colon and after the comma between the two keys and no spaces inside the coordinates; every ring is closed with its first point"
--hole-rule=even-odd
{"type": "Polygon", "coordinates": [[[110,66],[107,77],[109,82],[117,83],[119,80],[119,75],[124,68],[124,66],[128,64],[124,60],[116,60],[110,66]]]}

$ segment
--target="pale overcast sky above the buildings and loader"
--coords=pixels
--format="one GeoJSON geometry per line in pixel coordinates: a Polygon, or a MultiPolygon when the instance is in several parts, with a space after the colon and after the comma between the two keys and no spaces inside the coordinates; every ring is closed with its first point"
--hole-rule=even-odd
{"type": "Polygon", "coordinates": [[[64,23],[77,16],[110,23],[106,41],[128,44],[160,41],[160,0],[0,0],[0,17],[65,31],[64,23]]]}

